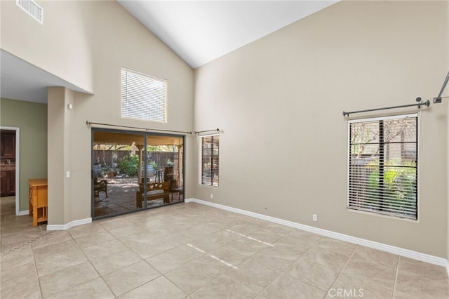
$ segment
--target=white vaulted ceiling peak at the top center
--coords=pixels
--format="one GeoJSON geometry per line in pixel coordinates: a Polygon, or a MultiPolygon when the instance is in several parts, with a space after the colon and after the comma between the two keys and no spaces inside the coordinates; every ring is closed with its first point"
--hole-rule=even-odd
{"type": "Polygon", "coordinates": [[[117,1],[194,69],[337,2],[117,1]]]}

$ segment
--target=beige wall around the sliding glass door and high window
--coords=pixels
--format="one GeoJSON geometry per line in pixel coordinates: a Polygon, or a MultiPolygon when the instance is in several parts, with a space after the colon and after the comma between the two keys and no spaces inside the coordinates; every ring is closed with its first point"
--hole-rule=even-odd
{"type": "MultiPolygon", "coordinates": [[[[66,120],[70,135],[65,145],[72,145],[65,150],[69,157],[65,171],[72,173],[71,185],[66,186],[69,188],[66,196],[72,194],[72,199],[66,202],[72,206],[65,223],[91,217],[91,128],[86,126],[86,121],[175,131],[191,131],[193,124],[192,69],[116,2],[88,1],[83,5],[95,12],[95,27],[91,32],[95,95],[73,93],[74,108],[66,120]],[[168,80],[167,124],[121,119],[121,67],[168,80]]],[[[186,154],[188,198],[192,196],[189,184],[193,154],[189,136],[186,154]]]]}

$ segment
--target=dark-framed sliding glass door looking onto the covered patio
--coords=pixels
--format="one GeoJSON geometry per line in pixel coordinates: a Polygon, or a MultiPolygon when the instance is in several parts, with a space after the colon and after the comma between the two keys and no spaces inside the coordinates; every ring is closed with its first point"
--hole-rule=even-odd
{"type": "Polygon", "coordinates": [[[92,129],[92,218],[184,201],[184,136],[92,129]]]}

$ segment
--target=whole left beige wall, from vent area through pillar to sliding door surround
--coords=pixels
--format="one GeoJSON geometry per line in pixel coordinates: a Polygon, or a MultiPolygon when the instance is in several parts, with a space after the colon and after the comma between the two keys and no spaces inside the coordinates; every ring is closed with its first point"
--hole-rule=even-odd
{"type": "MultiPolygon", "coordinates": [[[[1,48],[94,93],[48,89],[48,224],[65,225],[91,218],[91,128],[86,121],[192,131],[194,74],[116,1],[39,4],[44,25],[15,2],[2,1],[1,48]],[[121,119],[121,67],[168,80],[166,124],[121,119]]],[[[187,135],[187,198],[192,197],[192,140],[187,135]]]]}

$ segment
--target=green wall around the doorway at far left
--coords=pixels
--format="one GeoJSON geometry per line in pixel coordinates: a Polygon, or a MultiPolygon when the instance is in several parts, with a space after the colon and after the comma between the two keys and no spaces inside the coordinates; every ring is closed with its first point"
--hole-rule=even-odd
{"type": "Polygon", "coordinates": [[[20,128],[20,164],[16,171],[20,171],[20,211],[26,211],[28,180],[47,178],[47,105],[1,98],[0,126],[20,128]]]}

